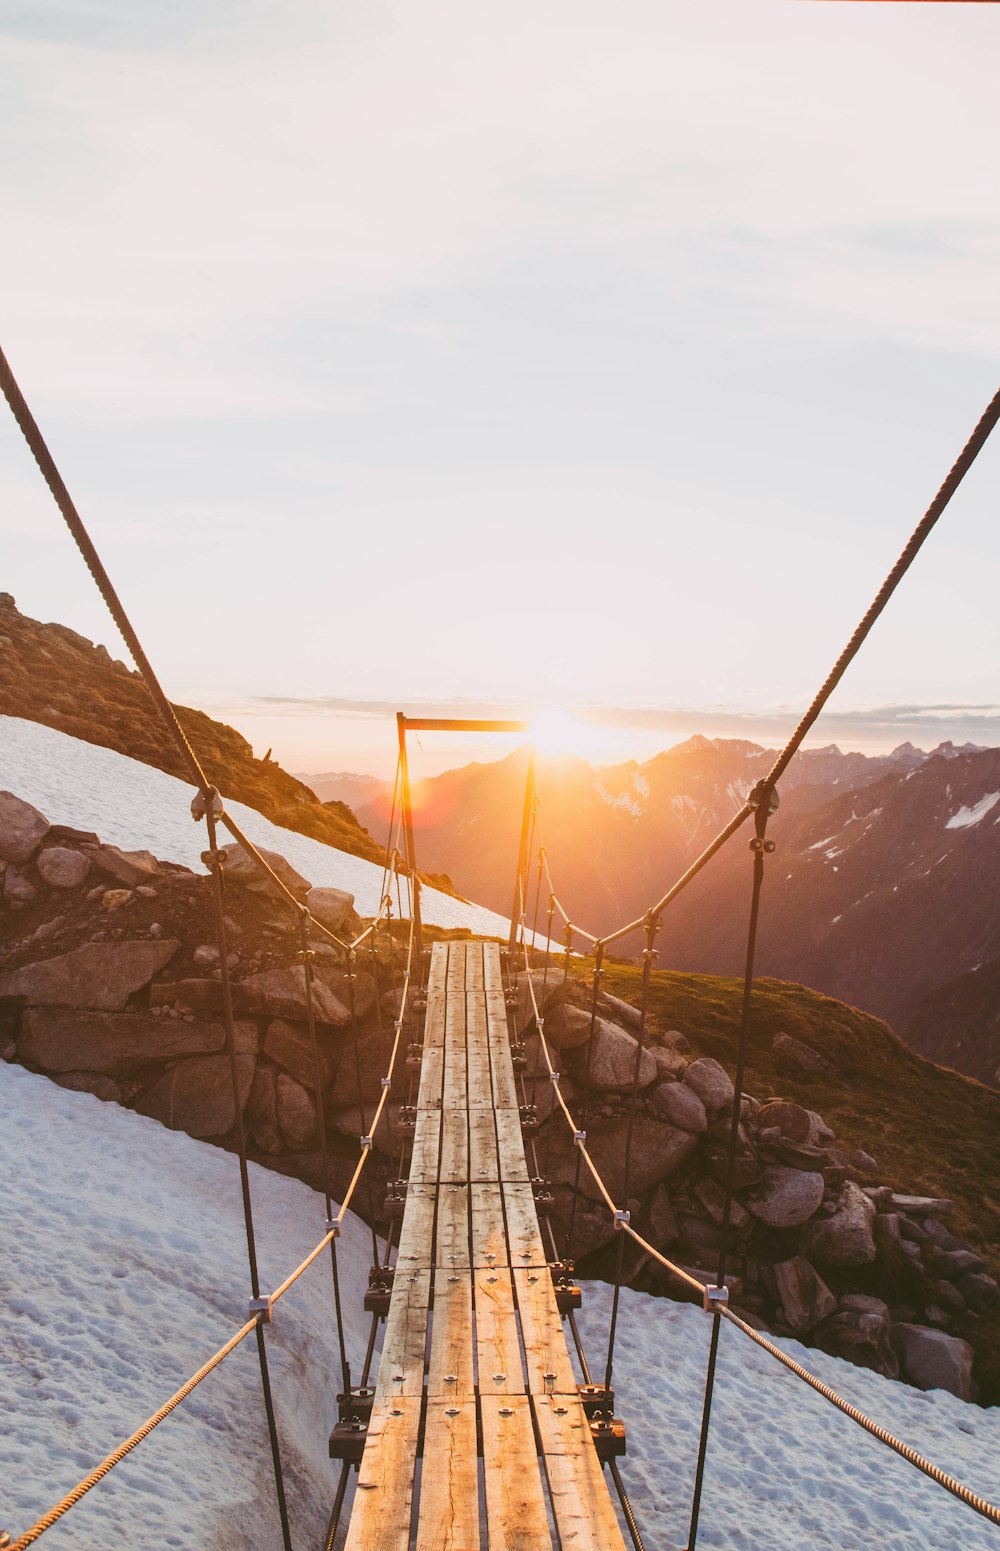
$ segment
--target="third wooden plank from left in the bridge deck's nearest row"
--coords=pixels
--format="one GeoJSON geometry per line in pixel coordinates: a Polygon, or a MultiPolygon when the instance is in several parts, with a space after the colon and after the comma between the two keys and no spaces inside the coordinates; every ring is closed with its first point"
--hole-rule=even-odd
{"type": "Polygon", "coordinates": [[[484,1394],[481,1413],[488,1551],[543,1551],[552,1535],[530,1402],[484,1394]]]}

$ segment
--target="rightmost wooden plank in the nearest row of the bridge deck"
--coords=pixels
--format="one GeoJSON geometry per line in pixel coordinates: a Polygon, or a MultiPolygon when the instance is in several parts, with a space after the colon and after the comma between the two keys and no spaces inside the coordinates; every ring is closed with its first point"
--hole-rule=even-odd
{"type": "Polygon", "coordinates": [[[532,1410],[560,1545],[574,1551],[625,1551],[583,1405],[569,1396],[543,1394],[532,1397],[532,1410]]]}

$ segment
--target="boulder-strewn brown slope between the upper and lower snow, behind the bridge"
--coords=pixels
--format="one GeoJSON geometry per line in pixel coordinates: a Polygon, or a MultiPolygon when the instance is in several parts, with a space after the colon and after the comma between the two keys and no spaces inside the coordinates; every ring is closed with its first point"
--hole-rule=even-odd
{"type": "MultiPolygon", "coordinates": [[[[11,794],[0,799],[0,859],[3,1056],[233,1145],[208,878],[51,827],[11,794]]],[[[236,853],[226,876],[239,1092],[251,1155],[319,1185],[316,1067],[298,931],[236,853]]],[[[290,869],[287,876],[310,907],[332,912],[333,929],[355,924],[350,896],[310,892],[290,869]]],[[[316,949],[319,1083],[335,1191],[353,1168],[381,1092],[400,959],[402,949],[383,941],[358,966],[355,1031],[343,955],[332,946],[316,949]]],[[[564,1092],[620,1197],[636,1013],[605,994],[592,1033],[586,986],[571,980],[564,988],[558,966],[535,969],[535,977],[564,1092]]],[[[608,983],[634,994],[634,971],[612,966],[608,983]]],[[[653,1039],[640,1064],[628,1207],[651,1242],[704,1272],[718,1247],[736,1005],[735,986],[657,976],[653,1039]]],[[[1000,1290],[991,1269],[1000,1258],[1000,1162],[995,1148],[983,1151],[980,1134],[995,1134],[1000,1100],[921,1061],[874,1019],[798,988],[764,985],[760,1013],[755,1035],[766,1055],[755,1053],[758,1097],[746,1098],[740,1134],[735,1306],[764,1328],[881,1373],[964,1397],[995,1397],[1000,1290]]],[[[561,1114],[552,1114],[550,1084],[535,1081],[538,1036],[524,977],[512,1002],[512,1033],[524,1045],[524,1118],[550,1179],[557,1242],[566,1241],[572,1218],[572,1253],[584,1270],[606,1275],[614,1230],[586,1179],[574,1210],[575,1152],[561,1114]]],[[[403,1035],[408,1042],[419,1038],[417,1014],[403,1035]]],[[[378,1224],[391,1210],[394,1148],[405,1135],[402,1103],[411,1100],[414,1070],[406,1062],[398,1076],[389,1129],[361,1193],[361,1210],[378,1224]]],[[[639,1253],[626,1269],[637,1286],[682,1295],[639,1253]]]]}

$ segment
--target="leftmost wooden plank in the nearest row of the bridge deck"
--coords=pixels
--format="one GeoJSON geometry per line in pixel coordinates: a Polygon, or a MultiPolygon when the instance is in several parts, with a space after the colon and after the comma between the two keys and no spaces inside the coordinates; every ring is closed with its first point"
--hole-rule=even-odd
{"type": "Polygon", "coordinates": [[[406,1551],[422,1402],[372,1408],[344,1551],[406,1551]]]}

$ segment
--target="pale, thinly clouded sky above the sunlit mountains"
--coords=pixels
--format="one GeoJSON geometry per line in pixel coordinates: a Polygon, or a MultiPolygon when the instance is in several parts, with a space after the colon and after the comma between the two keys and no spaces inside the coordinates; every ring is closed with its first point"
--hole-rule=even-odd
{"type": "MultiPolygon", "coordinates": [[[[0,0],[0,344],[171,696],[778,740],[1000,378],[998,76],[994,5],[0,0]]],[[[1000,743],[998,476],[816,743],[1000,743]]],[[[0,586],[121,650],[8,417],[0,586]]]]}

